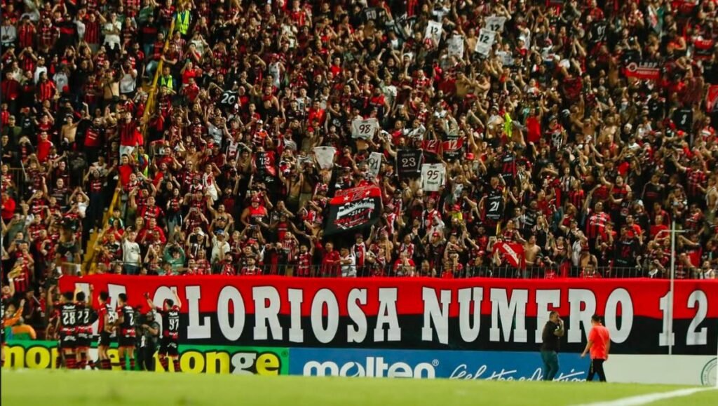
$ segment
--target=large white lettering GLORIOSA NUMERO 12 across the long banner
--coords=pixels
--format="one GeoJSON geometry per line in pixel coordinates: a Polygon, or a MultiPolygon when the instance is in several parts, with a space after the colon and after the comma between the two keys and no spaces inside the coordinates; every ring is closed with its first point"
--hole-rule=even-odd
{"type": "MultiPolygon", "coordinates": [[[[113,292],[115,297],[128,290],[125,285],[113,284],[108,284],[107,289],[113,292]]],[[[160,304],[164,299],[173,298],[172,291],[176,289],[177,287],[161,285],[156,287],[154,292],[150,292],[150,295],[154,303],[160,304]]],[[[535,296],[533,292],[531,293],[531,300],[536,304],[535,308],[533,303],[531,304],[531,315],[527,315],[529,289],[492,288],[486,298],[483,297],[482,287],[462,287],[455,293],[452,290],[426,286],[421,289],[422,303],[424,304],[421,309],[421,315],[423,315],[422,342],[435,341],[444,345],[453,341],[474,343],[480,336],[481,308],[485,301],[487,308],[489,304],[491,307],[490,315],[485,316],[491,318],[488,340],[492,342],[528,343],[526,319],[536,318],[536,329],[531,343],[541,343],[541,332],[550,310],[559,310],[569,318],[567,323],[567,343],[569,344],[585,342],[591,328],[591,315],[595,313],[600,313],[605,319],[605,326],[610,330],[612,341],[615,343],[629,341],[635,322],[633,304],[635,297],[631,295],[632,291],[624,287],[617,287],[610,292],[602,292],[605,303],[597,303],[595,292],[588,289],[536,289],[533,291],[535,296]],[[565,297],[562,295],[563,292],[566,292],[564,293],[565,297]],[[452,305],[458,306],[458,331],[449,330],[449,322],[452,321],[449,320],[449,309],[452,305]],[[536,313],[534,313],[534,309],[536,313]],[[618,320],[618,315],[620,315],[620,320],[618,320]]],[[[237,341],[243,338],[248,342],[286,339],[293,343],[307,341],[334,343],[340,328],[342,328],[342,333],[346,328],[346,343],[396,342],[401,341],[402,338],[402,326],[398,316],[399,292],[397,287],[378,287],[376,290],[355,287],[347,292],[346,297],[338,296],[333,290],[317,290],[312,292],[314,295],[311,297],[312,305],[304,315],[302,314],[302,305],[305,301],[305,290],[302,288],[286,288],[280,291],[276,287],[252,287],[251,292],[247,291],[244,294],[252,296],[249,298],[243,297],[238,287],[228,285],[218,293],[214,315],[205,316],[200,315],[202,287],[187,285],[184,290],[186,305],[183,310],[186,309],[187,312],[186,337],[190,343],[210,338],[227,341],[237,341]],[[249,302],[245,303],[244,299],[253,300],[254,303],[255,322],[251,329],[245,329],[248,327],[246,326],[246,306],[249,302]],[[282,324],[279,320],[279,312],[284,300],[286,300],[284,303],[288,303],[284,314],[290,317],[286,318],[282,324]],[[344,300],[346,300],[348,321],[342,321],[340,317],[340,305],[344,305],[344,300]],[[368,326],[368,315],[365,313],[367,306],[378,309],[376,310],[376,324],[373,326],[368,326]],[[310,336],[304,335],[305,331],[302,328],[304,317],[309,318],[312,323],[310,336]],[[213,318],[216,318],[219,332],[213,331],[212,326],[215,325],[213,318]],[[368,336],[370,328],[373,328],[372,336],[368,336]],[[284,331],[285,329],[287,331],[284,331]],[[243,337],[245,331],[251,331],[248,333],[250,336],[243,337]],[[284,335],[285,333],[287,336],[284,335]]],[[[143,291],[131,291],[131,294],[133,297],[139,297],[141,292],[143,291]]],[[[705,346],[709,341],[709,327],[705,326],[707,324],[705,322],[709,315],[709,300],[712,300],[712,296],[709,297],[704,290],[699,289],[689,292],[687,300],[683,295],[681,303],[676,303],[676,306],[682,306],[684,314],[686,314],[686,310],[690,311],[691,309],[694,309],[695,312],[688,328],[680,332],[680,334],[684,334],[685,331],[684,337],[686,337],[686,341],[681,341],[681,343],[687,346],[705,346]]],[[[689,292],[684,292],[684,294],[689,292]]],[[[207,294],[205,293],[205,295],[207,294]]],[[[213,298],[205,298],[205,300],[213,300],[213,298]]],[[[306,300],[309,298],[307,297],[306,300]]],[[[653,311],[657,309],[663,311],[663,329],[655,332],[657,336],[655,338],[658,339],[658,345],[665,346],[668,343],[666,329],[668,296],[657,297],[656,302],[645,305],[653,305],[653,311]]],[[[209,303],[203,303],[203,306],[208,312],[210,308],[213,308],[209,303]]],[[[419,315],[419,313],[415,314],[419,315]]],[[[412,333],[419,334],[419,331],[412,331],[412,333]]]]}

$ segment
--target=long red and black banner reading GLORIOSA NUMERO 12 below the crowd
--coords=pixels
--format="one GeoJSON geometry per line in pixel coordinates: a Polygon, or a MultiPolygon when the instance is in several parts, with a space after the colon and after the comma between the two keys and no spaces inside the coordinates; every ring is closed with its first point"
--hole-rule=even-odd
{"type": "MultiPolygon", "coordinates": [[[[666,354],[668,280],[475,278],[62,277],[62,292],[126,293],[146,311],[182,300],[180,340],[189,344],[536,351],[550,310],[567,323],[562,351],[581,351],[590,317],[605,318],[623,354],[666,354]],[[77,284],[77,285],[76,285],[77,284]]],[[[93,300],[93,303],[97,303],[93,300]]],[[[718,280],[678,280],[673,353],[713,354],[718,280]]]]}

